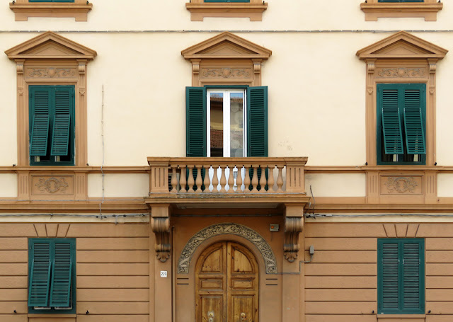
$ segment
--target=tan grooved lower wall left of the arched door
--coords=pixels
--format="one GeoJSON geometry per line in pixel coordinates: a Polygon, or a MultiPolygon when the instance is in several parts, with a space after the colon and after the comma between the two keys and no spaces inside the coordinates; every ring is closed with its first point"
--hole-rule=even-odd
{"type": "Polygon", "coordinates": [[[0,321],[149,322],[149,246],[149,224],[0,224],[0,321]],[[28,238],[38,236],[76,238],[76,316],[28,315],[28,238]]]}

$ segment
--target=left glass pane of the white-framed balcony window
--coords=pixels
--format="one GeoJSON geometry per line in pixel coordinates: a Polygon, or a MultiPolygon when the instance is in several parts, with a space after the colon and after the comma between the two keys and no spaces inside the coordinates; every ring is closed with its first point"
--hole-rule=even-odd
{"type": "Polygon", "coordinates": [[[224,156],[224,94],[210,93],[211,156],[224,156]]]}

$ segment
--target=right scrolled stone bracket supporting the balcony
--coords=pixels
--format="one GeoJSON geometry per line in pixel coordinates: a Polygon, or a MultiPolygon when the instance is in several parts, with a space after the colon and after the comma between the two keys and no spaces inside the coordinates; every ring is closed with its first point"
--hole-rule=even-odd
{"type": "Polygon", "coordinates": [[[287,205],[285,212],[285,258],[294,262],[299,255],[299,234],[304,229],[304,205],[287,205]]]}

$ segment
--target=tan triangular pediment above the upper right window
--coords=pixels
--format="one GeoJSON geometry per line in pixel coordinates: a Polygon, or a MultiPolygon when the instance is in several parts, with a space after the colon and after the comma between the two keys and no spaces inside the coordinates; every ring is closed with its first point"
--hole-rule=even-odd
{"type": "Polygon", "coordinates": [[[400,31],[357,52],[360,59],[371,58],[437,58],[442,59],[448,50],[400,31]]]}

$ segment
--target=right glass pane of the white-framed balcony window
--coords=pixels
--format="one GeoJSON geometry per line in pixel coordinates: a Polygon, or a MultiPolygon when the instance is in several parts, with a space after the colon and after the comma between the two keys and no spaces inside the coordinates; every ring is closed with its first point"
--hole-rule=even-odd
{"type": "Polygon", "coordinates": [[[243,156],[243,93],[230,94],[230,156],[243,156]]]}

